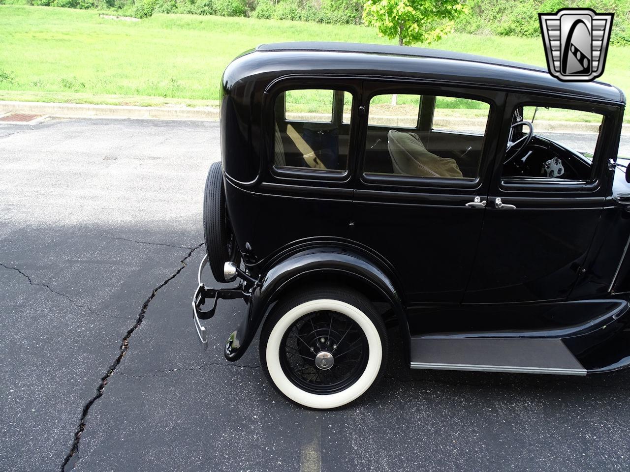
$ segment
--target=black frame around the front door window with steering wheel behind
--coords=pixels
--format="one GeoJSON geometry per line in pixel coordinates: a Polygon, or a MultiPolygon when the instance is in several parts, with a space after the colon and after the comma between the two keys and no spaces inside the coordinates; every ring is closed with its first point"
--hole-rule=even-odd
{"type": "MultiPolygon", "coordinates": [[[[501,125],[500,138],[497,147],[497,157],[495,170],[493,172],[493,188],[501,193],[534,192],[554,195],[558,193],[597,193],[604,188],[604,169],[607,168],[606,155],[610,154],[610,147],[616,146],[614,143],[617,122],[618,107],[610,103],[598,101],[583,101],[576,98],[564,98],[549,96],[546,94],[523,94],[508,93],[505,116],[501,125]],[[512,116],[515,110],[521,110],[526,106],[546,106],[549,108],[563,108],[565,110],[587,111],[602,115],[602,129],[597,137],[595,152],[593,152],[592,170],[590,179],[568,180],[554,179],[548,177],[503,177],[503,158],[505,148],[509,138],[509,126],[512,123],[512,116]],[[508,123],[510,123],[508,125],[508,123]]],[[[534,121],[534,132],[536,132],[536,121],[534,121]]]]}

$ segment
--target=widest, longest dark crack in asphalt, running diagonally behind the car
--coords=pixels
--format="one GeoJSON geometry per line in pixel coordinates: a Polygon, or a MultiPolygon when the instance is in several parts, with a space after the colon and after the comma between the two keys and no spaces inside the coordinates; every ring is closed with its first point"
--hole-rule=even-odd
{"type": "Polygon", "coordinates": [[[81,434],[83,434],[86,428],[86,419],[88,417],[89,409],[96,402],[96,400],[98,400],[99,398],[101,398],[101,396],[103,396],[103,391],[105,390],[105,386],[107,385],[110,377],[113,375],[114,371],[116,370],[120,362],[122,362],[122,359],[123,357],[125,357],[125,354],[127,354],[127,351],[129,351],[129,338],[131,337],[132,334],[134,334],[134,331],[138,329],[140,325],[142,324],[142,320],[144,320],[144,315],[146,314],[147,309],[149,308],[149,303],[151,303],[151,300],[155,298],[157,291],[159,291],[159,289],[163,288],[163,286],[168,284],[171,280],[175,279],[176,276],[178,276],[181,273],[181,271],[183,271],[183,269],[186,267],[186,260],[193,255],[193,252],[195,252],[195,250],[202,247],[202,245],[203,243],[199,244],[197,247],[191,248],[190,252],[188,252],[188,254],[186,254],[186,256],[183,259],[181,259],[180,261],[181,267],[177,269],[175,273],[169,276],[169,278],[164,280],[163,283],[159,284],[156,288],[152,289],[151,295],[149,295],[149,298],[147,298],[147,300],[145,300],[144,303],[142,304],[142,308],[140,309],[140,313],[138,313],[138,317],[136,318],[134,325],[130,327],[129,330],[127,330],[127,334],[125,334],[122,338],[122,342],[120,344],[120,349],[119,349],[120,352],[118,352],[118,356],[114,360],[113,364],[107,369],[107,372],[105,373],[105,375],[101,377],[101,382],[96,388],[95,396],[93,396],[89,400],[89,402],[86,403],[85,406],[83,407],[83,413],[81,413],[81,421],[79,422],[76,433],[74,434],[74,441],[72,442],[70,451],[68,452],[66,458],[64,459],[64,462],[61,464],[61,468],[60,468],[61,472],[67,472],[71,470],[72,468],[74,468],[77,461],[79,461],[79,441],[81,441],[81,434]]]}

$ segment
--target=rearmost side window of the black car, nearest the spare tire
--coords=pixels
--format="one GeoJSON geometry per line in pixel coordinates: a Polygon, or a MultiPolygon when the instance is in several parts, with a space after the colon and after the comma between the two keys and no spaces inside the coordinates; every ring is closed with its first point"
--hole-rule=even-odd
{"type": "Polygon", "coordinates": [[[352,94],[295,89],[275,101],[273,165],[285,169],[348,169],[352,94]]]}

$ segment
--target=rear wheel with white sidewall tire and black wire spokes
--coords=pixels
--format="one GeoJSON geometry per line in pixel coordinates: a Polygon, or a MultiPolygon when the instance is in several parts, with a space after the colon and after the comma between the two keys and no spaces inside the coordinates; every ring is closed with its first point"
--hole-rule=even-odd
{"type": "Polygon", "coordinates": [[[385,325],[374,305],[352,289],[295,291],[280,298],[266,318],[260,361],[289,400],[309,408],[342,407],[381,376],[385,325]]]}

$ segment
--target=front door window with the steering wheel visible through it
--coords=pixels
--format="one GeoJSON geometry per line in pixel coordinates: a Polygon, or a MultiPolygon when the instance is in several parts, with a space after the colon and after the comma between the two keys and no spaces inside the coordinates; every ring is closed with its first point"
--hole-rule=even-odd
{"type": "Polygon", "coordinates": [[[502,179],[547,183],[592,179],[604,116],[591,111],[520,106],[513,111],[502,179]]]}

